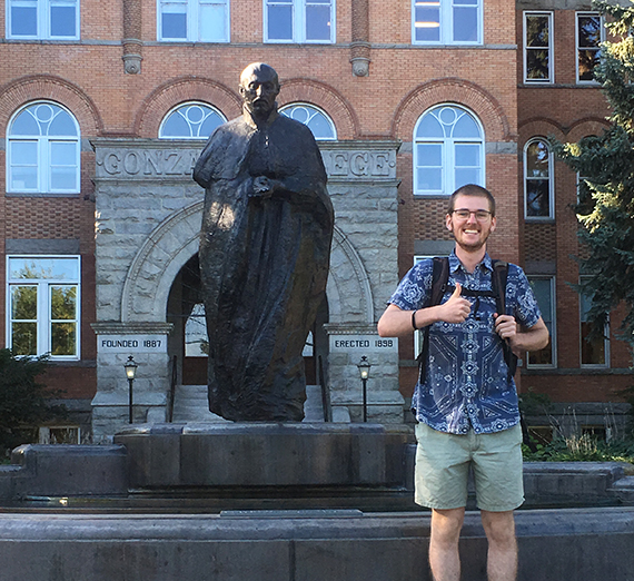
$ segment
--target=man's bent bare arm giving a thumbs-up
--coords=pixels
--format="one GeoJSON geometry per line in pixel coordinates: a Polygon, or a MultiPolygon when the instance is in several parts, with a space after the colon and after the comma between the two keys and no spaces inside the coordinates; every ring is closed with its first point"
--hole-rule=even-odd
{"type": "Polygon", "coordinates": [[[382,337],[403,337],[414,333],[412,316],[416,328],[423,328],[444,321],[445,323],[463,323],[472,311],[472,304],[460,296],[462,286],[456,283],[456,289],[449,301],[443,305],[435,305],[417,311],[403,311],[396,305],[388,305],[378,321],[377,331],[382,337]]]}

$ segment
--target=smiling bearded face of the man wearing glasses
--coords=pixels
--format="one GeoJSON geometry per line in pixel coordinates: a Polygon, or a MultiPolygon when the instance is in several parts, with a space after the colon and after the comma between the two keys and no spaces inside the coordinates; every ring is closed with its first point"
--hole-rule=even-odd
{"type": "Polygon", "coordinates": [[[447,229],[453,233],[456,244],[467,252],[479,250],[495,230],[495,224],[488,199],[479,196],[456,197],[454,211],[446,217],[447,229]]]}

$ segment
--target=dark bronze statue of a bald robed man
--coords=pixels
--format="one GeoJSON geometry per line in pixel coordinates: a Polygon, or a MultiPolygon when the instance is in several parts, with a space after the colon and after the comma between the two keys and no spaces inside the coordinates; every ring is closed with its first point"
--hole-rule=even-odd
{"type": "Polygon", "coordinates": [[[242,116],[214,131],[194,170],[206,188],[209,408],[234,421],[300,421],[303,349],[326,290],[333,206],[313,134],[277,112],[276,71],[249,65],[239,91],[242,116]]]}

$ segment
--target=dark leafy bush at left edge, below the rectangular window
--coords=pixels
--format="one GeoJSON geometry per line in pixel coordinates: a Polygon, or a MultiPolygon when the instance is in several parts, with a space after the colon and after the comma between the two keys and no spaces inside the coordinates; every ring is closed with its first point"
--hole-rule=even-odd
{"type": "Polygon", "coordinates": [[[28,443],[29,429],[66,414],[63,406],[49,404],[59,392],[37,381],[47,364],[47,355],[16,357],[10,349],[0,349],[0,449],[28,443]]]}

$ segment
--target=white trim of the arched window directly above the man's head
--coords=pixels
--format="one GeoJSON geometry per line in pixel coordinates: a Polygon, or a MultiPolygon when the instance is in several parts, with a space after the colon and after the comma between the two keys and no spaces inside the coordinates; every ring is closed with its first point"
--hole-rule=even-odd
{"type": "Polygon", "coordinates": [[[416,125],[414,126],[414,134],[413,134],[413,170],[414,170],[414,184],[413,184],[413,190],[414,190],[414,196],[415,197],[438,197],[438,196],[450,196],[455,188],[455,179],[454,179],[454,175],[455,175],[455,145],[456,144],[479,144],[481,145],[481,151],[479,151],[479,164],[481,164],[481,168],[482,168],[482,176],[481,176],[481,183],[478,184],[479,186],[483,186],[486,184],[486,137],[484,134],[484,127],[481,122],[481,120],[478,119],[478,117],[470,110],[467,109],[466,107],[462,107],[457,104],[454,102],[447,102],[447,104],[439,104],[439,105],[435,105],[434,107],[430,107],[429,109],[425,110],[423,112],[423,115],[418,118],[418,120],[416,121],[416,125]],[[420,124],[420,121],[423,120],[423,118],[433,109],[439,109],[442,107],[452,107],[455,109],[462,109],[463,111],[466,111],[468,115],[470,115],[470,117],[475,120],[476,125],[478,126],[478,129],[481,131],[481,139],[475,139],[475,138],[435,138],[435,139],[417,139],[416,138],[416,134],[418,132],[418,125],[420,124]],[[443,159],[440,160],[440,163],[443,164],[443,188],[439,190],[422,190],[419,191],[417,189],[417,167],[418,167],[418,148],[416,147],[417,144],[442,144],[443,145],[443,159]],[[450,145],[450,147],[446,147],[447,145],[450,145]]]}

